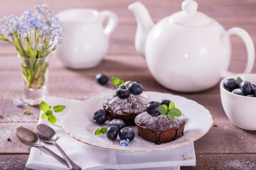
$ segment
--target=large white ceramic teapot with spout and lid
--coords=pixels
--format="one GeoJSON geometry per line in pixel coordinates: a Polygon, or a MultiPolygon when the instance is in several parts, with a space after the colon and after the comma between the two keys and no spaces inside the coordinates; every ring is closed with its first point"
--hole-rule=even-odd
{"type": "Polygon", "coordinates": [[[231,58],[230,35],[238,35],[247,48],[250,73],[255,62],[255,47],[242,28],[225,30],[213,18],[197,11],[193,0],[183,1],[171,16],[154,24],[140,2],[129,5],[137,19],[135,47],[146,56],[146,63],[156,81],[167,89],[193,92],[209,89],[226,77],[231,58]]]}

